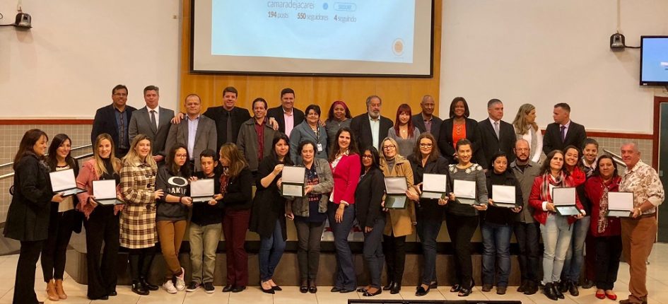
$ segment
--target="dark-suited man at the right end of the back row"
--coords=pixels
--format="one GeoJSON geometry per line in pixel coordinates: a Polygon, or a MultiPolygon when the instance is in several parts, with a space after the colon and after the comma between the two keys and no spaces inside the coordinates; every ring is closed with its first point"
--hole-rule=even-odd
{"type": "Polygon", "coordinates": [[[570,105],[558,103],[552,112],[554,122],[547,125],[543,136],[543,152],[545,155],[553,150],[561,150],[573,145],[582,149],[587,139],[587,132],[582,124],[570,120],[570,105]]]}

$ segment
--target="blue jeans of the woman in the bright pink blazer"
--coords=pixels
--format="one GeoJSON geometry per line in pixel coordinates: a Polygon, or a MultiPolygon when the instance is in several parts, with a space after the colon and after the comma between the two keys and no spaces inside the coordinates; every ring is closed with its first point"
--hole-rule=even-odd
{"type": "Polygon", "coordinates": [[[336,209],[339,209],[339,205],[330,203],[327,211],[329,226],[332,226],[332,233],[334,233],[334,247],[336,247],[336,279],[334,279],[334,286],[341,289],[355,289],[357,278],[355,276],[355,265],[353,264],[353,252],[348,244],[348,235],[355,220],[355,207],[347,206],[344,209],[344,217],[341,223],[336,223],[336,209]]]}

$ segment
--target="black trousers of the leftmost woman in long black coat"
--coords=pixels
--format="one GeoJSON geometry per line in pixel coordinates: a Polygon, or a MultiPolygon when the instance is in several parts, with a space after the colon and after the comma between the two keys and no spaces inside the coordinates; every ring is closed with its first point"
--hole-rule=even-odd
{"type": "Polygon", "coordinates": [[[16,264],[16,280],[14,281],[14,304],[39,303],[35,294],[35,271],[37,259],[42,252],[43,240],[21,241],[21,249],[16,264]]]}

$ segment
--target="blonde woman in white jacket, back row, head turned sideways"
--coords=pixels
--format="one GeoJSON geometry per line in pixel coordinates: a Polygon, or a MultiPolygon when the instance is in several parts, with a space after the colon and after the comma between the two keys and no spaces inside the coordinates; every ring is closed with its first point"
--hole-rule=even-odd
{"type": "Polygon", "coordinates": [[[543,153],[543,134],[536,124],[536,107],[530,103],[521,105],[515,120],[512,121],[512,127],[515,128],[517,139],[526,139],[529,142],[529,159],[538,163],[543,153]]]}

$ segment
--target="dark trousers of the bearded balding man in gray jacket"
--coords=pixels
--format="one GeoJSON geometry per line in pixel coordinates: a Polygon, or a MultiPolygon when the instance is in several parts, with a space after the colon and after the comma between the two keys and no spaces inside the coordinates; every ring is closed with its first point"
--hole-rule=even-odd
{"type": "Polygon", "coordinates": [[[541,237],[539,223],[515,223],[515,238],[517,246],[520,247],[520,275],[522,281],[539,281],[538,270],[540,269],[541,252],[538,241],[541,237]]]}

